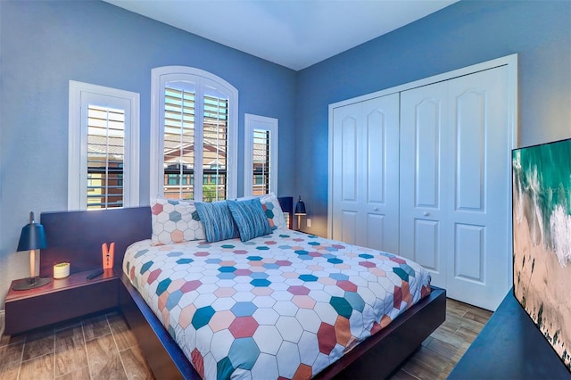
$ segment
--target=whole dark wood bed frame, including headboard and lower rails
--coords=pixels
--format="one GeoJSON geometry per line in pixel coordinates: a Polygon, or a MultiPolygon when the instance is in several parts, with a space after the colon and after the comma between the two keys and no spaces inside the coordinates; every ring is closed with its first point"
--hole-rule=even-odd
{"type": "MultiPolygon", "coordinates": [[[[293,198],[279,198],[293,221],[293,198]]],[[[161,325],[121,265],[129,244],[151,237],[151,211],[147,207],[101,211],[44,212],[49,248],[42,250],[40,275],[52,277],[55,263],[70,261],[71,273],[101,268],[101,244],[115,243],[114,270],[119,277],[118,309],[137,336],[141,350],[157,378],[200,378],[178,344],[161,325]]],[[[377,335],[323,370],[318,378],[385,378],[416,351],[446,318],[446,292],[436,287],[425,299],[404,312],[377,335]]]]}

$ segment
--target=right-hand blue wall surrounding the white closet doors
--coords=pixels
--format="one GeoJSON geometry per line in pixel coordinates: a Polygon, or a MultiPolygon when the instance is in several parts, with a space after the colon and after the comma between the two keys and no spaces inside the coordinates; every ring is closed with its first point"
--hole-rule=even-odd
{"type": "Polygon", "coordinates": [[[519,145],[571,136],[571,2],[460,1],[298,72],[296,189],[327,235],[328,104],[518,54],[519,145]]]}

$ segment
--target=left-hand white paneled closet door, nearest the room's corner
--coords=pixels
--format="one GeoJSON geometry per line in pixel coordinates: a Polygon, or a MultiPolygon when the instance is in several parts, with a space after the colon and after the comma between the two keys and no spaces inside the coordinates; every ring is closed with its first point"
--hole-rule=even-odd
{"type": "Polygon", "coordinates": [[[399,250],[399,95],[333,111],[333,235],[399,250]]]}

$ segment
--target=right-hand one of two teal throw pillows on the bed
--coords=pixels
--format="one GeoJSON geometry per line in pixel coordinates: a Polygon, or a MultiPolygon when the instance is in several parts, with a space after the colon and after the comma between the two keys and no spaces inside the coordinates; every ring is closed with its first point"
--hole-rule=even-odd
{"type": "Polygon", "coordinates": [[[226,202],[240,231],[240,240],[247,242],[254,237],[271,234],[268,217],[261,208],[260,198],[226,202]]]}

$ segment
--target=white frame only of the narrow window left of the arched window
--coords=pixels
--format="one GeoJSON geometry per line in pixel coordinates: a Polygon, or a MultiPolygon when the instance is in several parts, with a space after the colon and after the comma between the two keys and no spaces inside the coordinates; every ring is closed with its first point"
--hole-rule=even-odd
{"type": "Polygon", "coordinates": [[[138,93],[70,80],[68,210],[87,210],[87,105],[125,110],[123,207],[139,206],[140,96],[138,93]]]}

